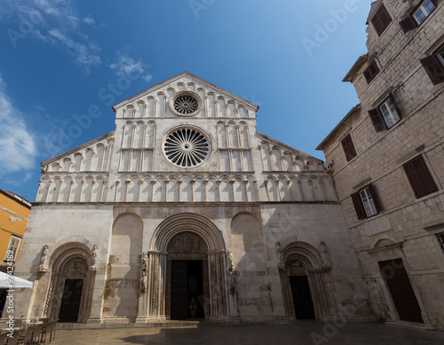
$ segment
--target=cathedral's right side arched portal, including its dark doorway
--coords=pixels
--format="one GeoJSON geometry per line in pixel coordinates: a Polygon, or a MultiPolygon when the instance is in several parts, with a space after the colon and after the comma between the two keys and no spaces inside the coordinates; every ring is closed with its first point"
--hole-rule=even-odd
{"type": "Polygon", "coordinates": [[[329,318],[334,314],[331,267],[322,263],[320,252],[305,242],[290,243],[282,250],[279,266],[285,310],[290,318],[329,318]]]}

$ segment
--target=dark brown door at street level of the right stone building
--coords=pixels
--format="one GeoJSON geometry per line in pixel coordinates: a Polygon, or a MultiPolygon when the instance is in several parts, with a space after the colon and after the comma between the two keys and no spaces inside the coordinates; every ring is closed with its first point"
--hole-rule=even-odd
{"type": "Polygon", "coordinates": [[[392,295],[392,301],[400,319],[424,324],[421,308],[402,259],[379,262],[379,269],[392,295]]]}

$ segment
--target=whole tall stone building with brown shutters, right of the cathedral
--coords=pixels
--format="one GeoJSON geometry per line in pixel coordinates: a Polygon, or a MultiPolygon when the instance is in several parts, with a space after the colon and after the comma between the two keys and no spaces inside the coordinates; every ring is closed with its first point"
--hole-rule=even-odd
{"type": "Polygon", "coordinates": [[[318,149],[336,183],[372,309],[444,329],[444,6],[371,5],[354,106],[318,149]]]}

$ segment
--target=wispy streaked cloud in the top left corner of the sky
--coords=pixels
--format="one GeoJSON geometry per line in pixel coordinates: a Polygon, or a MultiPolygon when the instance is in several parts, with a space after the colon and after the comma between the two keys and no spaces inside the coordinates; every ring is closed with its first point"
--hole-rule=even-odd
{"type": "MultiPolygon", "coordinates": [[[[21,39],[33,37],[45,43],[61,44],[86,74],[100,64],[99,47],[89,42],[83,26],[91,26],[91,16],[83,16],[70,0],[16,0],[0,4],[0,18],[12,18],[21,39]],[[84,17],[84,18],[83,18],[84,17]],[[21,28],[20,28],[21,27],[21,28]],[[23,27],[25,31],[23,31],[23,27]]],[[[15,36],[14,36],[15,37],[15,36]]]]}

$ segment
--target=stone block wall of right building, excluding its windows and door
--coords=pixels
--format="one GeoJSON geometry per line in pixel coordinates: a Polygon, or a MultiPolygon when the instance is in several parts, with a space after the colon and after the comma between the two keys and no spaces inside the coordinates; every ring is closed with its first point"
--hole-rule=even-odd
{"type": "Polygon", "coordinates": [[[442,82],[432,84],[420,59],[444,42],[444,6],[439,1],[419,27],[404,33],[399,21],[420,2],[384,3],[392,22],[379,37],[369,24],[367,56],[347,74],[361,105],[330,133],[322,149],[333,166],[345,222],[377,317],[400,320],[377,264],[400,257],[424,325],[443,329],[443,319],[434,305],[444,298],[440,284],[436,284],[444,278],[444,252],[436,236],[444,231],[444,88],[442,82]],[[374,59],[380,71],[367,82],[363,72],[374,59]],[[401,119],[392,128],[376,132],[368,112],[389,92],[400,107],[401,119]],[[357,153],[350,161],[346,161],[341,145],[347,134],[357,153]],[[418,155],[423,156],[438,192],[416,199],[402,164],[418,155]],[[375,187],[382,209],[376,216],[359,220],[351,194],[369,183],[375,187]],[[399,245],[399,250],[391,245],[399,245]]]}

